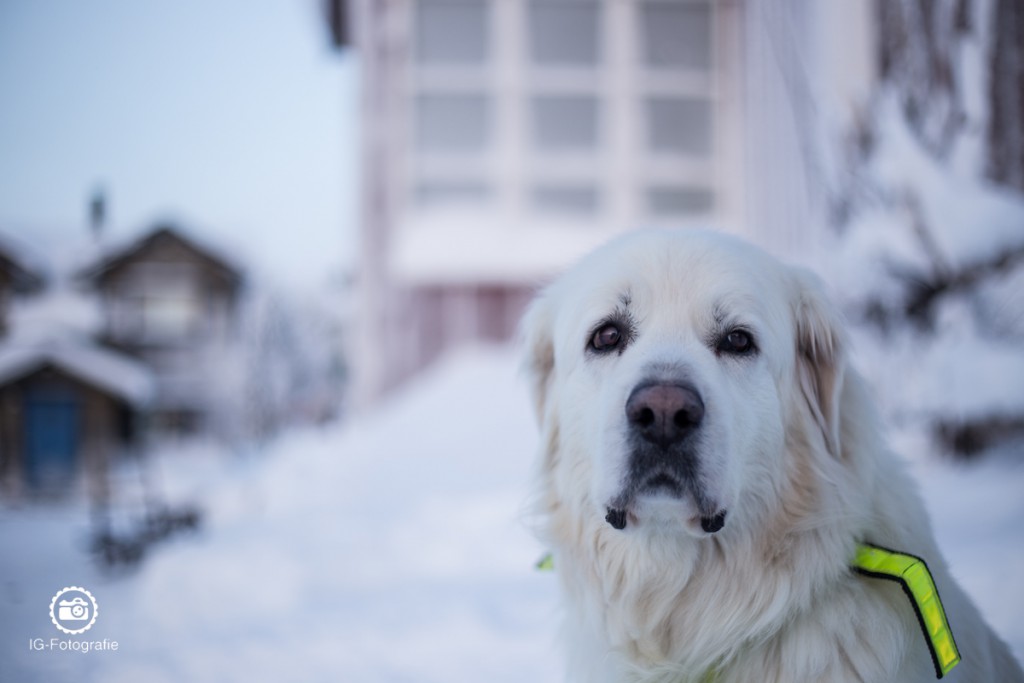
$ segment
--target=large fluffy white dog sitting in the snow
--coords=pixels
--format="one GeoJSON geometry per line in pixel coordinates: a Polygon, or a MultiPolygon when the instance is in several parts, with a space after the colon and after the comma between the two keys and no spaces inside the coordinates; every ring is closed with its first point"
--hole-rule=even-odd
{"type": "Polygon", "coordinates": [[[523,325],[572,681],[1024,681],[951,579],[809,272],[722,234],[637,232],[523,325]],[[911,595],[923,563],[906,594],[854,571],[862,544],[923,558],[941,602],[911,595]],[[933,651],[952,647],[943,672],[933,651]]]}

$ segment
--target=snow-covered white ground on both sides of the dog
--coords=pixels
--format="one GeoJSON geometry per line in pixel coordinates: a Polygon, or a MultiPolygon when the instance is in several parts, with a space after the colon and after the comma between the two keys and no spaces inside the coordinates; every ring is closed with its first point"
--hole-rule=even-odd
{"type": "MultiPolygon", "coordinates": [[[[121,577],[68,509],[0,512],[0,681],[558,681],[554,579],[521,519],[536,445],[508,349],[450,357],[371,416],[291,432],[259,457],[162,459],[202,486],[203,530],[121,577]],[[90,589],[87,636],[116,652],[31,651],[50,597],[90,589]]],[[[1024,459],[914,453],[953,571],[1024,656],[1024,459]]],[[[83,636],[84,637],[84,636],[83,636]]]]}

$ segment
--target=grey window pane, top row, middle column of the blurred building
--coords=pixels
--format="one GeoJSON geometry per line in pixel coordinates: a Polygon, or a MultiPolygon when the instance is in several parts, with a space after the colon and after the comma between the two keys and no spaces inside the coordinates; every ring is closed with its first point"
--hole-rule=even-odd
{"type": "Polygon", "coordinates": [[[596,65],[601,3],[531,0],[530,54],[539,65],[596,65]]]}

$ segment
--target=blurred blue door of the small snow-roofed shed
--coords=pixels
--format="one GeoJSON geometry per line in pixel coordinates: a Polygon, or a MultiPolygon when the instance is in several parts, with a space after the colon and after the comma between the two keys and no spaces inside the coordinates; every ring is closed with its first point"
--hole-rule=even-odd
{"type": "Polygon", "coordinates": [[[32,388],[25,401],[26,479],[35,490],[67,488],[75,476],[78,396],[70,388],[32,388]]]}

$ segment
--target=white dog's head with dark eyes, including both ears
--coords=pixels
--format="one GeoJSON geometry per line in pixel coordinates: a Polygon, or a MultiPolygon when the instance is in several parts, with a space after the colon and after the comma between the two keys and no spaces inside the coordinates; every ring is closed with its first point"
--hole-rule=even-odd
{"type": "Polygon", "coordinates": [[[525,323],[555,495],[617,529],[706,537],[784,476],[793,396],[838,453],[838,333],[817,289],[694,231],[629,236],[566,273],[525,323]]]}

